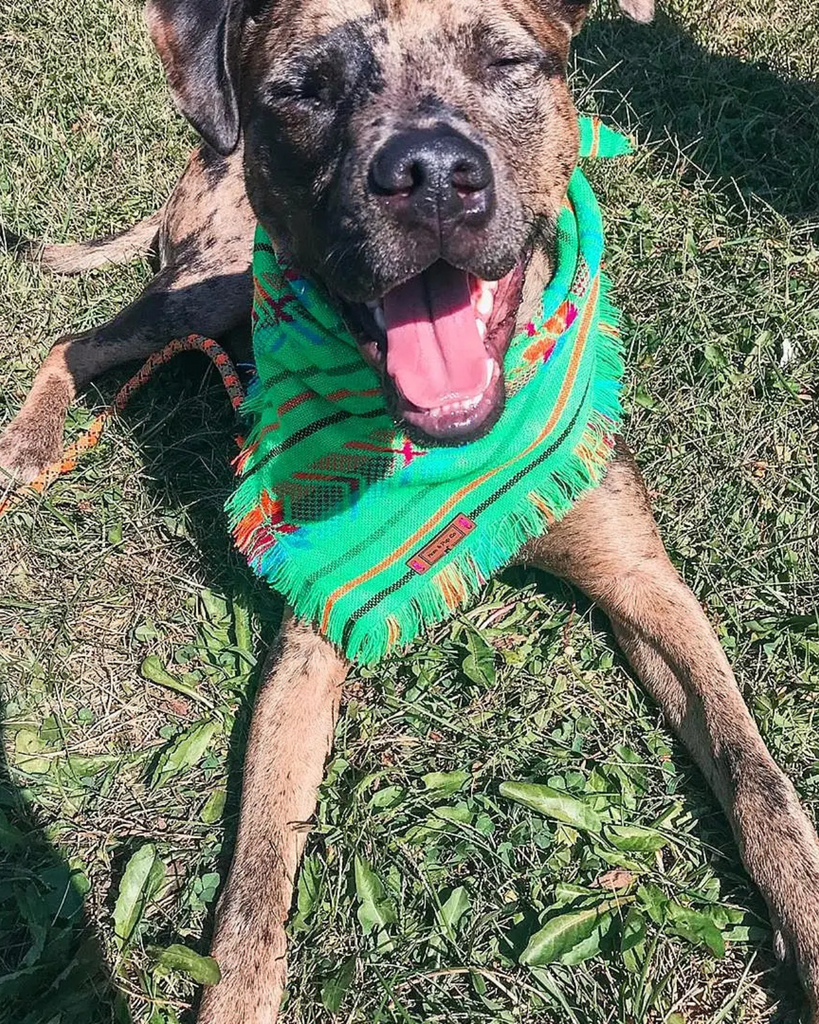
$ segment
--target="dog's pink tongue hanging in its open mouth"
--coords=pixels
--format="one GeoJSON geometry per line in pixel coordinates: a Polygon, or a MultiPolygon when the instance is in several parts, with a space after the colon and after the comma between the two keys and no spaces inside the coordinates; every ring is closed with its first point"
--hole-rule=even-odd
{"type": "Polygon", "coordinates": [[[489,356],[475,325],[469,279],[436,263],[384,296],[387,373],[419,409],[486,390],[489,356]]]}

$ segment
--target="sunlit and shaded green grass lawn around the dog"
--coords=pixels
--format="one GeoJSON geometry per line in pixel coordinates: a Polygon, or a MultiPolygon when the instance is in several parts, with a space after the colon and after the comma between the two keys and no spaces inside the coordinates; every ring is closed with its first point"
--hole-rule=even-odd
{"type": "MultiPolygon", "coordinates": [[[[584,111],[643,143],[592,169],[630,325],[628,434],[672,556],[815,817],[809,8],[670,0],[650,28],[600,16],[578,40],[574,86],[584,111]]],[[[0,222],[33,236],[147,213],[191,141],[129,0],[7,0],[0,95],[0,222]]],[[[55,337],[112,315],[146,275],[61,281],[0,256],[0,415],[55,337]]],[[[70,429],[115,386],[84,396],[70,429]]],[[[207,951],[257,659],[278,612],[222,524],[226,404],[201,362],[180,360],[76,473],[0,520],[3,1024],[191,1019],[190,964],[167,949],[207,951]]],[[[605,623],[522,570],[350,683],[291,938],[291,1024],[796,1014],[728,827],[605,623]],[[522,807],[501,794],[509,780],[563,791],[564,814],[580,801],[606,827],[522,807]],[[634,880],[617,906],[613,869],[634,880]],[[521,965],[555,919],[572,925],[572,951],[521,965]]]]}

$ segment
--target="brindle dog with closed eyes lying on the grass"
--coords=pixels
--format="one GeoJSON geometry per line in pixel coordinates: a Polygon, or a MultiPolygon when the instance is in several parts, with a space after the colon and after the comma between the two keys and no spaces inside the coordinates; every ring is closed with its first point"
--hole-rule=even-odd
{"type": "MultiPolygon", "coordinates": [[[[172,336],[246,324],[257,217],[336,296],[396,419],[443,443],[490,429],[503,402],[502,356],[549,279],[555,217],[576,159],[565,65],[587,6],[153,0],[148,24],[172,90],[209,144],[161,217],[115,240],[42,251],[55,268],[82,269],[150,249],[158,232],[161,269],[112,323],[57,342],[0,441],[2,465],[26,479],[52,459],[66,407],[93,376],[172,336]],[[423,279],[429,291],[459,273],[483,291],[499,283],[488,288],[492,311],[477,355],[474,339],[464,341],[464,357],[490,371],[477,394],[447,391],[445,358],[426,375],[391,358],[382,318],[407,283],[423,279]]],[[[650,0],[623,6],[651,13],[650,0]]],[[[624,445],[603,484],[519,559],[571,582],[610,617],[723,805],[770,908],[776,951],[792,955],[819,1024],[819,842],[663,550],[624,445]]],[[[286,618],[252,723],[213,940],[222,981],[203,995],[202,1024],[277,1016],[304,822],[347,670],[310,627],[286,618]]]]}

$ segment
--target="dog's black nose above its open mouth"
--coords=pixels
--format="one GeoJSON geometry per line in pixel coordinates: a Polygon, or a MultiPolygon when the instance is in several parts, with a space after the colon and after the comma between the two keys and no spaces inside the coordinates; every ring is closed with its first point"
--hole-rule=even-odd
{"type": "Polygon", "coordinates": [[[370,186],[400,220],[441,236],[481,227],[494,209],[485,151],[445,126],[393,135],[370,166],[370,186]]]}

